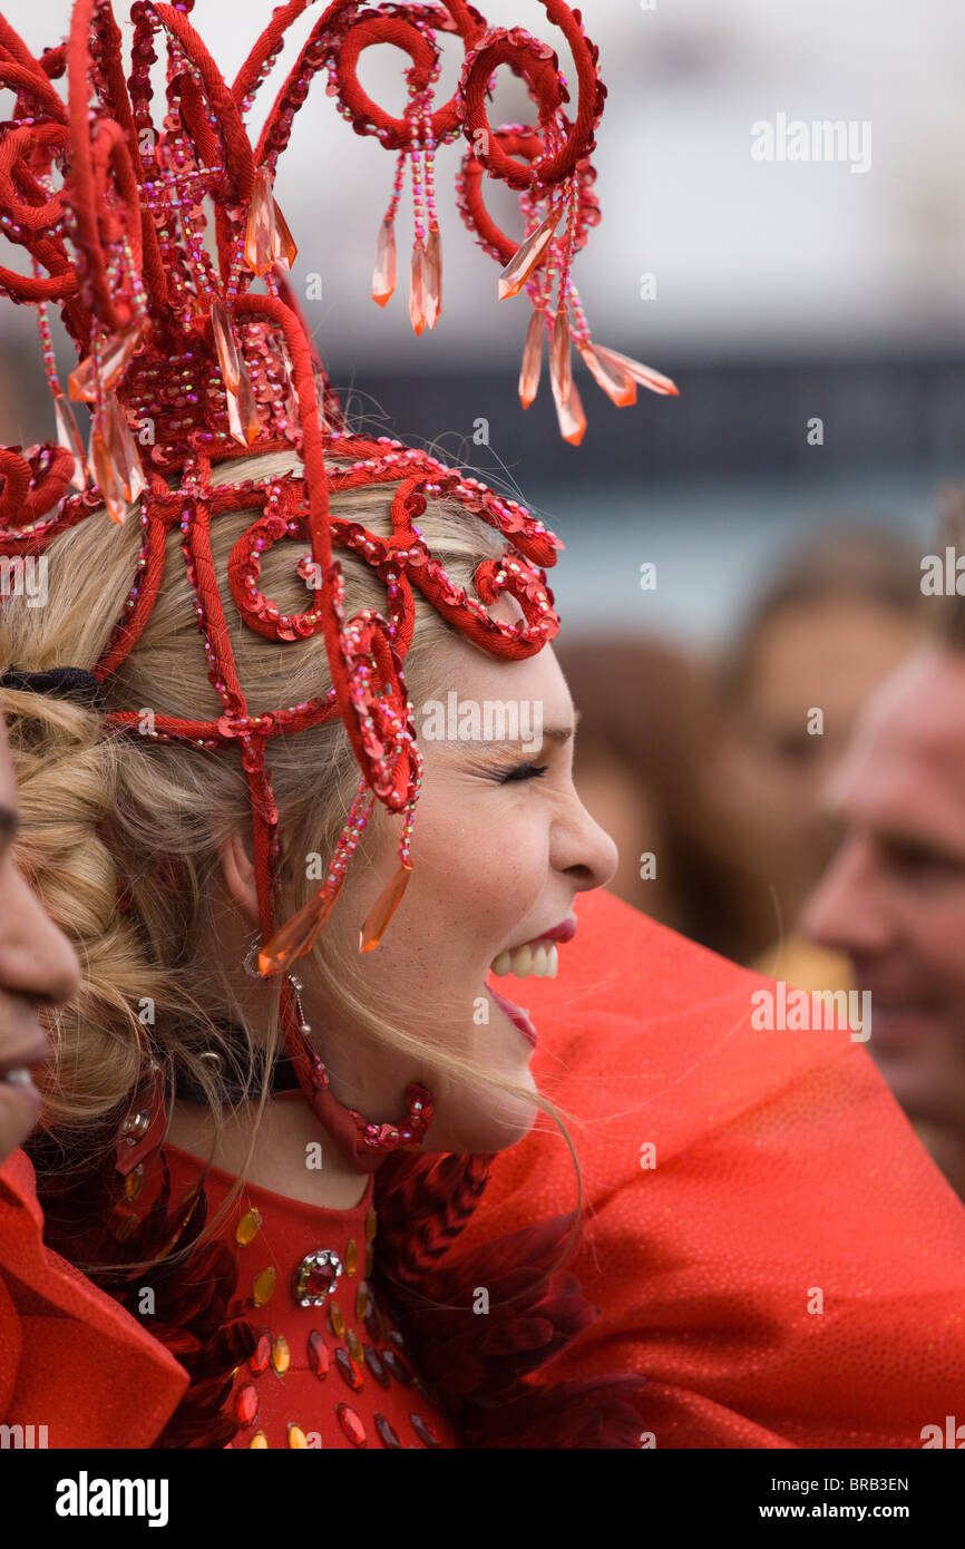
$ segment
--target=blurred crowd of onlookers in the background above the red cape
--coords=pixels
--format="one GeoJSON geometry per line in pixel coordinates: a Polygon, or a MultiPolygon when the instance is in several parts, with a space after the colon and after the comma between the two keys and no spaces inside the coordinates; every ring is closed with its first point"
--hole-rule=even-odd
{"type": "MultiPolygon", "coordinates": [[[[942,500],[936,553],[965,555],[942,500]]],[[[919,545],[830,525],[713,658],[565,630],[558,655],[612,891],[788,987],[871,991],[866,1047],[965,1197],[965,596],[928,590],[919,545]]]]}

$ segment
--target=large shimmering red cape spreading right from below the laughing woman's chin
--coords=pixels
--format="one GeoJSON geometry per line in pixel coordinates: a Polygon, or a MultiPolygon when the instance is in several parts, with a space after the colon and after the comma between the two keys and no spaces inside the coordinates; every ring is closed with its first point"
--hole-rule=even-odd
{"type": "MultiPolygon", "coordinates": [[[[606,892],[576,909],[559,977],[511,993],[541,1089],[587,1120],[567,1269],[601,1315],[531,1380],[644,1374],[644,1445],[922,1447],[962,1411],[965,1208],[866,1046],[754,1030],[770,981],[606,892]]],[[[496,1159],[454,1258],[573,1208],[548,1126],[496,1159]]]]}

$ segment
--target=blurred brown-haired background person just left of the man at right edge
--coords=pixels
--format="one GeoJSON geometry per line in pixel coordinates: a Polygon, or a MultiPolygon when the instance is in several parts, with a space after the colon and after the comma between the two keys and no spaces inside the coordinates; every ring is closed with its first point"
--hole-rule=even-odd
{"type": "Polygon", "coordinates": [[[793,551],[719,668],[703,756],[705,830],[731,877],[705,945],[802,988],[849,987],[795,934],[833,849],[819,792],[855,717],[919,630],[920,556],[832,527],[793,551]]]}

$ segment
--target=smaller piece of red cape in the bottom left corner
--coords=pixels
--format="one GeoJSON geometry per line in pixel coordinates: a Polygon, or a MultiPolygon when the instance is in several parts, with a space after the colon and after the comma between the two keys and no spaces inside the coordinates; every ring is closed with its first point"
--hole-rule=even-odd
{"type": "Polygon", "coordinates": [[[187,1372],[42,1230],[34,1169],[14,1151],[0,1168],[0,1422],[33,1425],[34,1445],[150,1447],[187,1372]]]}

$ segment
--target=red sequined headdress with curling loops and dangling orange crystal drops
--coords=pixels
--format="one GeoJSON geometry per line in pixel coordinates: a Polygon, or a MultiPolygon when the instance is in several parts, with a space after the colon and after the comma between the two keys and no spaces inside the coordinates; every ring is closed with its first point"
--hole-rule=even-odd
{"type": "MultiPolygon", "coordinates": [[[[420,788],[403,678],[414,629],[412,587],[448,623],[507,658],[537,652],[559,627],[545,567],[562,545],[542,522],[424,452],[384,435],[372,440],[347,431],[283,277],[296,246],[273,197],[279,155],[314,76],[327,73],[325,90],[358,135],[375,136],[397,155],[393,194],[376,243],[376,302],[384,305],[395,290],[395,214],[409,164],[415,211],[409,313],[417,333],[435,325],[441,251],[434,152],[443,141],[465,136],[460,215],[503,265],[500,296],[525,288],[533,302],[519,381],[524,407],[537,390],[544,335],[561,432],[572,443],[586,429],[572,375],[573,344],[616,404],[632,403],[638,383],[663,393],[677,389],[649,367],[592,342],[573,288],[575,252],[599,218],[589,155],[606,96],[596,48],[578,11],[562,0],[542,0],[576,67],[570,118],[555,51],[524,28],[489,28],[465,0],[375,6],[335,0],[314,23],[252,147],[246,115],[308,0],[276,8],[232,85],[189,22],[192,3],[138,0],[130,6],[127,71],[107,0],[76,0],[68,40],[39,60],[0,17],[0,84],[15,93],[14,115],[0,125],[0,226],[29,257],[28,274],[0,266],[0,291],[37,310],[56,414],[54,441],[0,449],[0,555],[37,553],[53,534],[93,513],[105,510],[119,522],[129,505],[138,503],[143,547],[122,617],[94,669],[104,682],[144,627],[161,584],[167,534],[178,527],[223,713],[206,722],[156,716],[155,734],[204,748],[240,748],[266,943],[259,962],[263,973],[276,973],[308,951],[322,929],[375,801],[401,818],[400,869],[362,926],[362,951],[378,945],[403,897],[420,788]],[[465,60],[452,99],[434,107],[440,34],[462,39],[465,60]],[[359,84],[359,56],[375,43],[392,43],[410,59],[403,118],[387,115],[359,84]],[[152,67],[161,50],[166,93],[158,125],[152,67]],[[534,124],[489,125],[486,94],[500,65],[525,81],[536,104],[534,124]],[[64,77],[67,104],[53,85],[64,77]],[[527,232],[522,245],[486,212],[483,172],[519,192],[527,232]],[[204,240],[209,226],[212,245],[204,240]],[[46,318],[51,302],[81,358],[70,376],[70,398],[90,406],[87,448],[57,381],[46,318]],[[245,483],[218,480],[218,465],[239,457],[239,446],[248,454],[294,449],[304,471],[245,483]],[[325,454],[352,466],[327,468],[325,454]],[[180,480],[175,489],[172,474],[180,480]],[[378,483],[398,483],[392,538],[330,516],[331,491],[378,483]],[[74,494],[68,494],[71,485],[74,494]],[[440,496],[479,513],[508,539],[500,561],[479,567],[476,596],[449,579],[421,539],[418,516],[428,499],[440,496]],[[232,551],[226,598],[211,562],[211,522],[225,511],[251,508],[259,514],[232,551]],[[282,613],[259,589],[260,556],[283,538],[310,545],[299,573],[314,590],[305,610],[294,615],[282,613]],[[333,556],[339,547],[362,558],[384,581],[384,615],[366,610],[345,620],[341,567],[333,556]],[[503,590],[517,598],[522,623],[508,626],[488,617],[486,606],[503,590]],[[322,634],[331,691],[270,714],[249,714],[226,629],[229,609],[279,641],[322,634]],[[359,764],[358,795],[318,897],[276,929],[279,846],[268,744],[339,716],[359,764]]],[[[136,713],[107,719],[115,726],[138,725],[136,713]]],[[[324,1067],[297,1027],[287,990],[283,1007],[299,1080],[319,1117],[344,1135],[324,1067]]],[[[415,1139],[410,1129],[366,1126],[359,1115],[353,1120],[361,1157],[366,1149],[378,1156],[386,1145],[415,1139]]]]}

